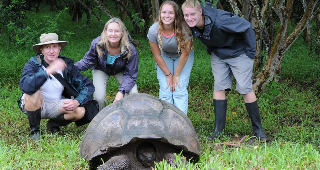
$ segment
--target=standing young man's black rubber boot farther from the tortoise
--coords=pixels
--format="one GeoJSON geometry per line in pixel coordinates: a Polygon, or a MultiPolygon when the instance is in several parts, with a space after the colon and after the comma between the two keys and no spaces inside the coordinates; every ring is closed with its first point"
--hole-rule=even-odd
{"type": "Polygon", "coordinates": [[[259,107],[257,100],[252,103],[244,103],[245,107],[247,108],[248,114],[251,118],[251,124],[254,135],[261,141],[267,142],[269,138],[264,134],[262,131],[261,125],[261,117],[259,113],[259,107]]]}

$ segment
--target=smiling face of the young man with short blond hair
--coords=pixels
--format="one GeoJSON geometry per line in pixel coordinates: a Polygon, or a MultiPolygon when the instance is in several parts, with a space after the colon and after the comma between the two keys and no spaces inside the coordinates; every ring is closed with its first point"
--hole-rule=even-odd
{"type": "Polygon", "coordinates": [[[202,9],[197,10],[196,8],[185,7],[182,8],[184,20],[190,27],[204,27],[204,23],[201,23],[202,9]]]}

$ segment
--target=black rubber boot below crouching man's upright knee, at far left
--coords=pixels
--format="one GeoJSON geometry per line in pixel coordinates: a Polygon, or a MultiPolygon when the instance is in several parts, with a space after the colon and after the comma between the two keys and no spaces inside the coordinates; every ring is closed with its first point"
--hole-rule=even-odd
{"type": "Polygon", "coordinates": [[[35,110],[35,111],[27,111],[25,110],[27,116],[28,116],[28,121],[29,121],[29,126],[31,128],[30,131],[30,137],[33,140],[40,140],[40,121],[41,121],[41,108],[35,110]]]}

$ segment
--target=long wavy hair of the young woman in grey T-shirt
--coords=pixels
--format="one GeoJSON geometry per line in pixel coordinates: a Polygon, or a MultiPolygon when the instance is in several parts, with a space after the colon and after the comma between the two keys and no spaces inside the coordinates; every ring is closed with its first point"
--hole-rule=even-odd
{"type": "Polygon", "coordinates": [[[183,16],[179,12],[178,4],[176,4],[173,1],[165,1],[164,3],[161,4],[160,10],[159,10],[159,14],[158,14],[158,18],[155,20],[155,22],[159,21],[158,35],[157,36],[158,36],[158,42],[159,42],[160,51],[162,51],[162,48],[163,48],[163,44],[162,44],[163,43],[162,42],[163,23],[162,23],[160,14],[161,14],[161,9],[162,9],[164,4],[169,4],[173,8],[173,12],[174,12],[173,32],[174,32],[174,34],[175,34],[175,36],[177,38],[177,44],[178,44],[177,53],[179,54],[182,51],[182,49],[186,49],[186,50],[188,50],[188,52],[190,52],[194,47],[194,42],[193,42],[193,39],[192,39],[192,33],[191,33],[191,30],[190,30],[189,26],[184,21],[183,16]],[[187,34],[184,33],[184,30],[187,32],[187,34]],[[187,41],[187,37],[188,36],[191,37],[190,41],[187,41]]]}

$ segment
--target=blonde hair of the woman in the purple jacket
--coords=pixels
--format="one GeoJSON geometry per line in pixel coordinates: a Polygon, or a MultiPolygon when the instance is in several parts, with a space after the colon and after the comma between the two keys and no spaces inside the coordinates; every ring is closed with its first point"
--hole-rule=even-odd
{"type": "Polygon", "coordinates": [[[97,44],[97,52],[101,57],[103,53],[99,46],[109,51],[109,41],[105,30],[107,30],[108,25],[113,22],[119,24],[120,33],[122,34],[122,37],[120,38],[120,55],[124,54],[128,50],[129,52],[124,58],[130,59],[132,53],[132,47],[128,38],[130,35],[127,28],[124,26],[124,23],[117,17],[109,19],[108,22],[104,25],[104,29],[101,33],[101,38],[97,44]]]}

